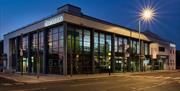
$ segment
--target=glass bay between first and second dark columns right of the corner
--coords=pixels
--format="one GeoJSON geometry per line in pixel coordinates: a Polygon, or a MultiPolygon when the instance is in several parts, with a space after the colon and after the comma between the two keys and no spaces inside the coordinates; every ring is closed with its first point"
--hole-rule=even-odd
{"type": "Polygon", "coordinates": [[[95,72],[108,72],[111,67],[111,35],[94,32],[95,72]]]}

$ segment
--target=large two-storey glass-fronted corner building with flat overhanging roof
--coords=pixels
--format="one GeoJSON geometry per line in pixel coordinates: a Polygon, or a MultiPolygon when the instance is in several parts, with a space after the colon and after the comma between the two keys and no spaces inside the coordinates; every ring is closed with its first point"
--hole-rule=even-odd
{"type": "Polygon", "coordinates": [[[145,71],[153,68],[151,43],[143,33],[87,16],[81,8],[67,4],[47,18],[4,35],[4,53],[7,70],[16,72],[145,71]]]}

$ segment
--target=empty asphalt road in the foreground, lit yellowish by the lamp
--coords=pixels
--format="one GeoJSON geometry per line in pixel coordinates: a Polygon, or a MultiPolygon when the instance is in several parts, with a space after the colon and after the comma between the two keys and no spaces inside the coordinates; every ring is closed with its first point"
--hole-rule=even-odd
{"type": "Polygon", "coordinates": [[[179,75],[180,72],[144,73],[38,84],[0,78],[0,91],[180,91],[180,79],[175,79],[179,75]]]}

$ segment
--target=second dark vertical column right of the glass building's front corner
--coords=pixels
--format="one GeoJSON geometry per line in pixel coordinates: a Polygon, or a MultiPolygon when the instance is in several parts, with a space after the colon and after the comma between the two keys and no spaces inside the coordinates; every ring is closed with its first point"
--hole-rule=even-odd
{"type": "Polygon", "coordinates": [[[114,40],[115,40],[115,34],[113,33],[112,34],[112,38],[111,38],[111,44],[112,44],[112,47],[111,47],[111,71],[112,72],[115,72],[115,52],[114,52],[114,47],[115,47],[115,45],[114,45],[114,40]]]}

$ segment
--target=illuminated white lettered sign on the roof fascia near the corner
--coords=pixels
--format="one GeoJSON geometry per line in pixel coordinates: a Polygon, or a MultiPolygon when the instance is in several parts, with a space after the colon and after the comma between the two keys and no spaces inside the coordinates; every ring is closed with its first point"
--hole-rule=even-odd
{"type": "Polygon", "coordinates": [[[53,18],[50,18],[50,19],[46,20],[45,23],[44,23],[44,26],[47,27],[47,26],[50,26],[50,25],[53,25],[53,24],[56,24],[56,23],[60,23],[63,20],[64,20],[63,16],[58,15],[56,17],[53,17],[53,18]]]}

